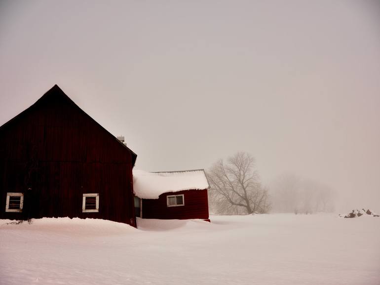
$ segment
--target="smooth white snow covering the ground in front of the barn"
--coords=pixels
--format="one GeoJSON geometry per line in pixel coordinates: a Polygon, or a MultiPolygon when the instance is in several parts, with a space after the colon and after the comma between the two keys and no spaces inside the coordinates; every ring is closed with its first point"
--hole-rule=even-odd
{"type": "Polygon", "coordinates": [[[380,218],[0,220],[0,284],[380,284],[380,218]]]}

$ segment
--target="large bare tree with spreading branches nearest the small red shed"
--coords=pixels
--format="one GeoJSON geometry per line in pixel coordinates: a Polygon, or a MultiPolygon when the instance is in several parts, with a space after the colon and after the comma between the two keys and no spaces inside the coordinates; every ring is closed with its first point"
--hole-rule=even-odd
{"type": "Polygon", "coordinates": [[[239,152],[215,163],[207,178],[211,210],[221,214],[266,213],[270,209],[268,190],[262,186],[255,159],[239,152]]]}

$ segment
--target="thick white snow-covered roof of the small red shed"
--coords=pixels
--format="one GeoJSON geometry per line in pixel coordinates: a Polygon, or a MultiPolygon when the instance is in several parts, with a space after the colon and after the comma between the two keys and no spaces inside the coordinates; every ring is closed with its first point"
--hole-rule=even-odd
{"type": "Polygon", "coordinates": [[[169,172],[133,169],[133,190],[142,199],[158,199],[165,192],[203,190],[209,187],[203,169],[169,172]]]}

